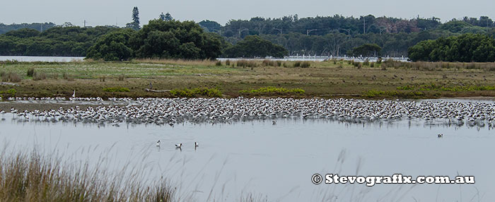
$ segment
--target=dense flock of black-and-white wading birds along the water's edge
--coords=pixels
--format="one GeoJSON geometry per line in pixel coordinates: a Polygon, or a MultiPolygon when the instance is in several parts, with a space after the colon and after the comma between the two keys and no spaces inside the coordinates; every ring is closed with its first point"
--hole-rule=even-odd
{"type": "MultiPolygon", "coordinates": [[[[445,102],[355,99],[293,99],[293,98],[110,98],[17,97],[13,101],[57,102],[76,104],[93,103],[95,107],[60,107],[55,110],[20,111],[11,109],[17,121],[72,121],[111,124],[168,124],[177,123],[230,123],[255,119],[332,119],[361,123],[367,121],[394,121],[423,119],[441,121],[450,125],[484,127],[495,126],[494,102],[445,102]],[[81,102],[80,102],[81,101],[81,102]],[[95,102],[95,103],[94,103],[95,102]],[[110,103],[111,105],[108,105],[110,103]]],[[[8,112],[1,111],[2,119],[8,112]]],[[[276,124],[276,121],[272,121],[276,124]]],[[[438,135],[438,137],[441,137],[438,135]]]]}

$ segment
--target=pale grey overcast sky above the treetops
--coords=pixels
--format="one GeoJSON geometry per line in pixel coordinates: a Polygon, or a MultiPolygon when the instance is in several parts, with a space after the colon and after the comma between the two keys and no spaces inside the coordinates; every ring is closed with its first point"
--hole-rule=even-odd
{"type": "Polygon", "coordinates": [[[441,18],[442,22],[463,16],[495,17],[494,0],[1,0],[0,23],[53,22],[74,25],[117,25],[131,21],[132,8],[138,6],[141,24],[169,12],[177,20],[215,20],[225,25],[231,19],[255,16],[279,18],[298,14],[308,16],[389,16],[397,18],[441,18]]]}

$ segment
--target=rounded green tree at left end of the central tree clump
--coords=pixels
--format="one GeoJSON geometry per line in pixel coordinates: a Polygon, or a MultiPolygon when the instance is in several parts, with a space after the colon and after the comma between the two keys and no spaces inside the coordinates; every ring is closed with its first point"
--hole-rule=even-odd
{"type": "Polygon", "coordinates": [[[88,49],[86,58],[103,59],[105,61],[122,61],[132,57],[129,39],[134,35],[131,29],[119,30],[103,35],[88,49]]]}

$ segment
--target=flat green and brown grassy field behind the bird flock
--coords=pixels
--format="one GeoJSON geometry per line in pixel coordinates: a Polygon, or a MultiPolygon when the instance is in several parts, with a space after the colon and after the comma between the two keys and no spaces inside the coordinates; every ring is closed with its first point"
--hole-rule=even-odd
{"type": "Polygon", "coordinates": [[[4,97],[12,95],[11,89],[16,97],[69,97],[73,90],[77,97],[218,97],[217,90],[222,97],[495,96],[495,64],[491,63],[7,61],[0,63],[0,74],[3,82],[18,84],[0,85],[4,97]],[[153,90],[165,91],[148,92],[149,83],[153,90]]]}

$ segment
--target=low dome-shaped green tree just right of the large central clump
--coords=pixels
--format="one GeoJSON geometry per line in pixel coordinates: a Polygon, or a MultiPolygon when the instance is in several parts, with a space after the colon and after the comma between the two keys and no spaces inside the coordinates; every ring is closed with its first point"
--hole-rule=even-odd
{"type": "Polygon", "coordinates": [[[232,47],[225,49],[226,57],[284,57],[289,52],[280,45],[273,44],[269,40],[264,40],[258,36],[248,36],[232,47]]]}

